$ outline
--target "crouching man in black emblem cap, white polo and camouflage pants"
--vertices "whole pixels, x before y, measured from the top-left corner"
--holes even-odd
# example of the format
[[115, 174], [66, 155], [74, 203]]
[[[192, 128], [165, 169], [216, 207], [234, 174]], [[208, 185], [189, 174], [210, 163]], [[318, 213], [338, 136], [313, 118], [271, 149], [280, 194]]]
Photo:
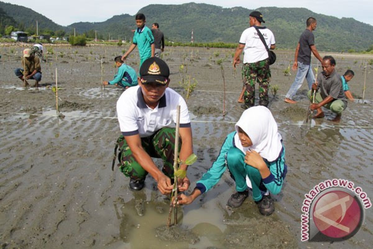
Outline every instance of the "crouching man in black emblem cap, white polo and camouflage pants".
[[[119, 137], [120, 171], [130, 177], [131, 190], [144, 187], [149, 173], [156, 181], [162, 194], [172, 191], [170, 178], [173, 177], [173, 157], [175, 150], [176, 108], [180, 105], [181, 147], [179, 159], [193, 153], [192, 130], [189, 112], [184, 99], [169, 85], [169, 67], [157, 57], [146, 59], [140, 68], [138, 86], [130, 87], [119, 97], [117, 115], [122, 136]], [[121, 139], [122, 138], [122, 139]], [[179, 143], [180, 144], [180, 143]], [[151, 157], [162, 158], [162, 171]], [[187, 165], [181, 165], [186, 170]], [[179, 181], [179, 190], [189, 187], [187, 177]]]

